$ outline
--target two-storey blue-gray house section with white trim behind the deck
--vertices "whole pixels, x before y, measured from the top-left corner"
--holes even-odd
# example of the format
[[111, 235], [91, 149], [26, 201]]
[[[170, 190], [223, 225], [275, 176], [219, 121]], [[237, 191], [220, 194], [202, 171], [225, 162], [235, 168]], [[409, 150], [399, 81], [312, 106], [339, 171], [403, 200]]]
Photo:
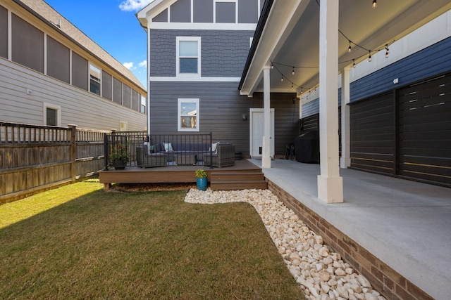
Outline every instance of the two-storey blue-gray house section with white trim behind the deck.
[[[263, 0], [154, 0], [137, 14], [148, 33], [149, 133], [213, 133], [261, 157], [262, 93], [237, 89]], [[271, 156], [298, 134], [296, 94], [275, 94]]]

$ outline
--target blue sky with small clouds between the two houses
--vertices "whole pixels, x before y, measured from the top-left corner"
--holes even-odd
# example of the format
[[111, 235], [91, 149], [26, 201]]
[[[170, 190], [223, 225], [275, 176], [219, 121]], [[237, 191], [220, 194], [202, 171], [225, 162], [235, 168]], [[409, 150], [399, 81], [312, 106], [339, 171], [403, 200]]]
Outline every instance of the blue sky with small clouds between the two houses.
[[146, 84], [146, 32], [135, 17], [152, 0], [44, 0]]

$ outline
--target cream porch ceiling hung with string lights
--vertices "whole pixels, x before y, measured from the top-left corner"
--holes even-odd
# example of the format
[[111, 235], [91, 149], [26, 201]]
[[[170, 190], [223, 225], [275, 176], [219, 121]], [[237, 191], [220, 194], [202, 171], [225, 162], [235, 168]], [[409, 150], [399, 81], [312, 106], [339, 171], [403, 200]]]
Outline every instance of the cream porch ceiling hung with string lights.
[[[319, 84], [319, 2], [320, 0], [275, 0], [262, 24], [261, 38], [242, 77], [241, 92], [252, 95], [263, 90], [262, 69], [274, 62], [271, 91], [301, 93]], [[339, 70], [369, 56], [366, 49], [384, 48], [426, 22], [451, 9], [449, 0], [340, 0]], [[352, 41], [352, 51], [348, 52]], [[359, 46], [356, 46], [358, 44]], [[375, 54], [376, 52], [372, 52]], [[284, 66], [286, 65], [286, 66]], [[295, 74], [292, 70], [295, 67]], [[280, 81], [281, 74], [284, 80]]]

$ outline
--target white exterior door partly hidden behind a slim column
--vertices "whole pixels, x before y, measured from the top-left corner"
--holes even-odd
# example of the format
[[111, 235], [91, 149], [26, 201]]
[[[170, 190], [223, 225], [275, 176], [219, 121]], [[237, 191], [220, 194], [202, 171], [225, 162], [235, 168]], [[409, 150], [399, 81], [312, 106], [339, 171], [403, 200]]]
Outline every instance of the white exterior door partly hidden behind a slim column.
[[[271, 157], [274, 157], [274, 109], [270, 110], [271, 115]], [[263, 108], [251, 108], [249, 110], [249, 153], [251, 157], [261, 157], [263, 153], [264, 136], [264, 115]]]

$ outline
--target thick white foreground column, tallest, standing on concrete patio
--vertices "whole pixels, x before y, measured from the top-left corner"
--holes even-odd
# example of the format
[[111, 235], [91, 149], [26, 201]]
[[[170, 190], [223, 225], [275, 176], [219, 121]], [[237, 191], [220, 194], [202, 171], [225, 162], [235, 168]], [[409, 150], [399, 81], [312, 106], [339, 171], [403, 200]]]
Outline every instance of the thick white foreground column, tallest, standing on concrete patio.
[[319, 143], [321, 174], [318, 197], [343, 202], [338, 159], [338, 0], [321, 0], [319, 8]]

